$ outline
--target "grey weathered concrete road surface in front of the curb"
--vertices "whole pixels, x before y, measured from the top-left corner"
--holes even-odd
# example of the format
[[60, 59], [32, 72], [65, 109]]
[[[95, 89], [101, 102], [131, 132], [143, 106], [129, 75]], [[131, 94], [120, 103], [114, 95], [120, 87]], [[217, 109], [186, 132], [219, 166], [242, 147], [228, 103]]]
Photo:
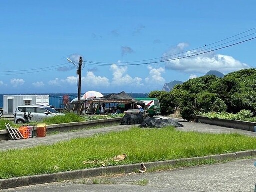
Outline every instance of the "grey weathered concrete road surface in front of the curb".
[[[256, 159], [237, 160], [228, 163], [185, 167], [169, 171], [143, 174], [124, 174], [109, 177], [78, 179], [61, 183], [48, 183], [6, 189], [6, 191], [93, 191], [93, 192], [185, 192], [185, 191], [254, 191]], [[92, 184], [92, 179], [109, 184]], [[147, 181], [145, 186], [136, 185]], [[84, 183], [84, 184], [83, 184]]]

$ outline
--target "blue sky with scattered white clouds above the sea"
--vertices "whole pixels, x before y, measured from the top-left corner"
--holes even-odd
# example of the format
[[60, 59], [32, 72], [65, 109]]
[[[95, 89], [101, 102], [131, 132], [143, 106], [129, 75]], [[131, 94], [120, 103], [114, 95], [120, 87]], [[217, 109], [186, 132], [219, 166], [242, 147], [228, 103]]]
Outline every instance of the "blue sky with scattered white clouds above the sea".
[[79, 56], [82, 93], [150, 92], [209, 70], [256, 67], [255, 0], [0, 0], [0, 7], [2, 94], [76, 93], [77, 68], [67, 58], [78, 65]]

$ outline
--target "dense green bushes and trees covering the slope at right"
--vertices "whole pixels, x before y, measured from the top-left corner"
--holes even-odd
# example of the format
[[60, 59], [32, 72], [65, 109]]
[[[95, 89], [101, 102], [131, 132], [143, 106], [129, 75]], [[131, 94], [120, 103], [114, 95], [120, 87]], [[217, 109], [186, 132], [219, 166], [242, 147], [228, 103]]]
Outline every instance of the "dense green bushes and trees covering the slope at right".
[[193, 78], [170, 92], [152, 91], [149, 97], [159, 99], [163, 115], [179, 111], [186, 120], [194, 120], [199, 113], [237, 114], [241, 110], [249, 110], [251, 117], [255, 117], [256, 68], [231, 72], [223, 78], [214, 75]]

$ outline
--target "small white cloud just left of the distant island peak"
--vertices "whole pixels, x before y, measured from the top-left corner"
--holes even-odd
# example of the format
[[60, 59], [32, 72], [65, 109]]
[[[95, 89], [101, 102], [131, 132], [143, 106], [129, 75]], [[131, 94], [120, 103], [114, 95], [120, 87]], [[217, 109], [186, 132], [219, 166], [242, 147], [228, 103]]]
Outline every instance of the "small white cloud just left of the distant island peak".
[[149, 76], [145, 78], [146, 83], [164, 84], [165, 79], [161, 76], [165, 72], [164, 68], [153, 68], [150, 65], [147, 68], [149, 69]]

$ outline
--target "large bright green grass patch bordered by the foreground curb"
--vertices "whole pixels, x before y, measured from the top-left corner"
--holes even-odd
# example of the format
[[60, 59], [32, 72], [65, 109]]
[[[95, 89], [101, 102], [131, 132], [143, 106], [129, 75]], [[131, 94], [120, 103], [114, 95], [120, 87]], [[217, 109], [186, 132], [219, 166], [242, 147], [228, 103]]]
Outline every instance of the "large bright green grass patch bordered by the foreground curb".
[[[33, 138], [36, 139], [36, 138]], [[256, 138], [162, 129], [132, 128], [96, 134], [49, 146], [0, 152], [0, 178], [19, 177], [93, 167], [206, 156], [256, 148]], [[113, 161], [119, 154], [123, 161]], [[84, 161], [93, 163], [83, 163]]]

